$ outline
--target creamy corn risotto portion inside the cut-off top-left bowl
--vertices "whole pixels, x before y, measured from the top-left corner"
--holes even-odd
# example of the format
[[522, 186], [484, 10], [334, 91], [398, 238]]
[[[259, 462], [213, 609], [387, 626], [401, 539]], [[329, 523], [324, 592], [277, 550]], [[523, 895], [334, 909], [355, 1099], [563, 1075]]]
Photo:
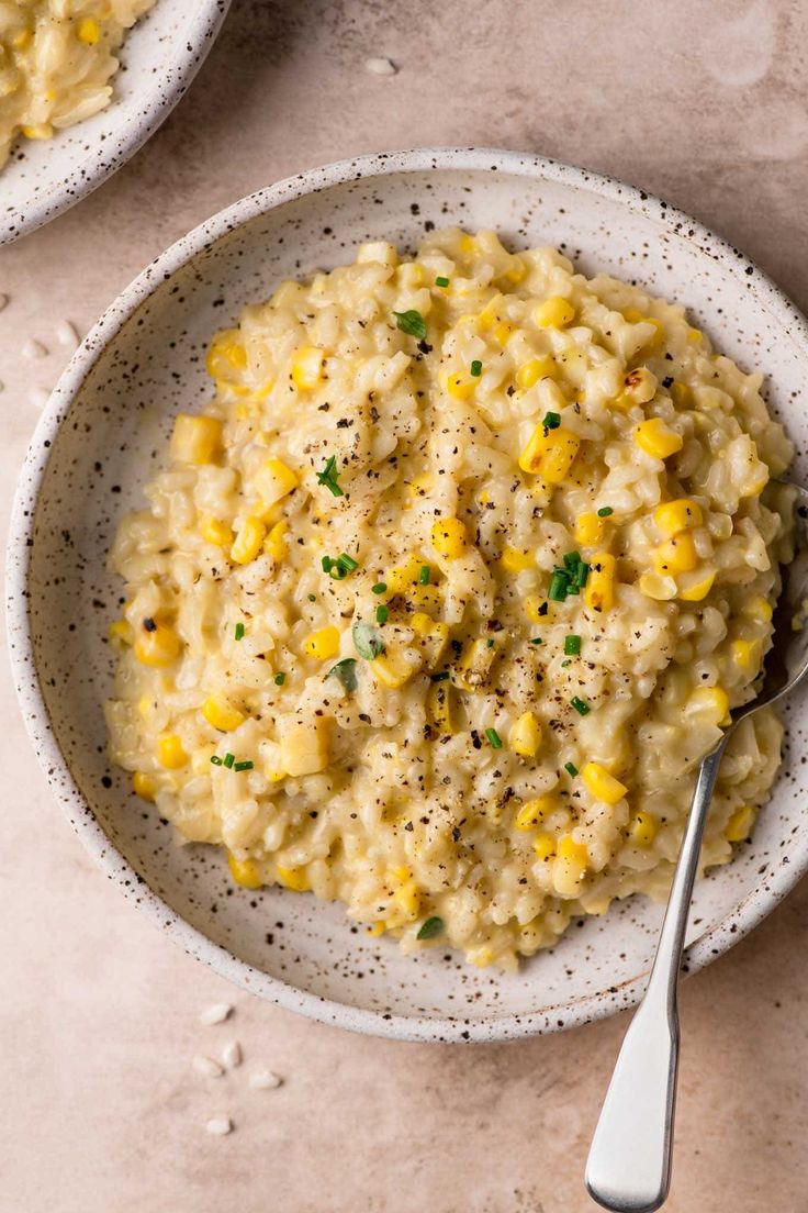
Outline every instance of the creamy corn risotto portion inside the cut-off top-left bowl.
[[0, 0], [0, 169], [18, 135], [47, 139], [104, 109], [115, 52], [155, 0]]

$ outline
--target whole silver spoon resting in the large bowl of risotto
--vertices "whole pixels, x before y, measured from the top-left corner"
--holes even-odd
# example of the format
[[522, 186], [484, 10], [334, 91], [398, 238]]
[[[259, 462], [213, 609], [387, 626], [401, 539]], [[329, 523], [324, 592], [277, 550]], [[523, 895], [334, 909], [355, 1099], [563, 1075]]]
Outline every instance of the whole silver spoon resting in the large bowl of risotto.
[[808, 599], [808, 492], [792, 488], [797, 556], [784, 570], [763, 687], [757, 699], [735, 708], [721, 741], [701, 761], [657, 957], [625, 1033], [589, 1151], [589, 1194], [614, 1213], [653, 1213], [667, 1196], [680, 1041], [677, 984], [701, 836], [721, 759], [740, 721], [787, 695], [808, 670], [808, 627], [795, 625], [806, 614]]

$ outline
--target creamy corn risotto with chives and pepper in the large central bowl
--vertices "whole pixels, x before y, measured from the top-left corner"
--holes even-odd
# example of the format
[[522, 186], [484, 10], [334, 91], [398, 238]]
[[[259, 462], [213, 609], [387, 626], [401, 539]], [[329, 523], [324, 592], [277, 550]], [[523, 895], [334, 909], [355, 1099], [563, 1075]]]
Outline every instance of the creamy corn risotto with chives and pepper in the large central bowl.
[[[114, 761], [248, 889], [512, 967], [665, 894], [772, 637], [791, 445], [684, 309], [492, 232], [283, 281], [111, 565]], [[744, 722], [703, 869], [781, 725]]]

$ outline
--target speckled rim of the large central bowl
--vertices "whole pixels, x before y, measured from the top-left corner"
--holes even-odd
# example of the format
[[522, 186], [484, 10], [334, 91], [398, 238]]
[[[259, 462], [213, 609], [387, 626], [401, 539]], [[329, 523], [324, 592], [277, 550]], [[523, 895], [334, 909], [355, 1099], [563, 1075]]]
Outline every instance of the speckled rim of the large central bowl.
[[[297, 173], [241, 198], [174, 241], [107, 308], [70, 359], [36, 425], [15, 495], [6, 548], [7, 638], [13, 680], [25, 728], [52, 792], [102, 871], [118, 881], [124, 894], [134, 898], [136, 904], [148, 917], [188, 953], [204, 961], [243, 990], [325, 1024], [402, 1041], [504, 1041], [583, 1025], [606, 1018], [615, 1010], [632, 1007], [641, 997], [647, 974], [638, 973], [619, 986], [561, 1002], [541, 1012], [464, 1020], [391, 1014], [350, 1007], [298, 990], [286, 981], [254, 969], [225, 947], [214, 944], [162, 901], [134, 872], [96, 820], [90, 804], [73, 779], [50, 725], [34, 665], [27, 609], [35, 507], [48, 463], [51, 443], [93, 365], [144, 300], [216, 240], [282, 203], [350, 181], [429, 170], [505, 172], [571, 184], [602, 194], [652, 222], [661, 223], [671, 234], [697, 241], [705, 255], [738, 277], [745, 289], [756, 294], [762, 307], [780, 324], [791, 326], [797, 341], [808, 346], [808, 321], [753, 262], [684, 212], [617, 178], [532, 153], [452, 147], [369, 153]], [[698, 972], [743, 939], [779, 904], [806, 870], [808, 870], [808, 848], [789, 864], [778, 865], [770, 873], [767, 871], [734, 910], [687, 947], [683, 972]]]

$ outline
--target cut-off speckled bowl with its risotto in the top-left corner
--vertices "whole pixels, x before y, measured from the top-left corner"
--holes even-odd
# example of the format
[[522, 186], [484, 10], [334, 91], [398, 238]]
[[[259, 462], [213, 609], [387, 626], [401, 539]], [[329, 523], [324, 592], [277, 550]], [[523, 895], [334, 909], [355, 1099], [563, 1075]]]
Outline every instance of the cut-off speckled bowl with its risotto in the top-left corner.
[[31, 0], [0, 10], [0, 244], [61, 215], [171, 113], [230, 0]]

